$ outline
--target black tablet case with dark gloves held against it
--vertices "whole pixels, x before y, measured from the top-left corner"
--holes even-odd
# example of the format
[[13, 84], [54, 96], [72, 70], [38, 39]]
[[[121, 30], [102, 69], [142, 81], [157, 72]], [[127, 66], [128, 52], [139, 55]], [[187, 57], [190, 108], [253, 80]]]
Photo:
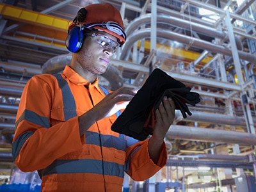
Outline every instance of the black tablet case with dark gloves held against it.
[[145, 140], [154, 129], [154, 112], [163, 100], [164, 95], [172, 97], [176, 109], [184, 118], [191, 115], [186, 103], [195, 106], [200, 102], [199, 94], [190, 92], [191, 88], [168, 76], [163, 70], [156, 68], [143, 86], [138, 90], [124, 112], [118, 116], [111, 130], [131, 136], [137, 140]]

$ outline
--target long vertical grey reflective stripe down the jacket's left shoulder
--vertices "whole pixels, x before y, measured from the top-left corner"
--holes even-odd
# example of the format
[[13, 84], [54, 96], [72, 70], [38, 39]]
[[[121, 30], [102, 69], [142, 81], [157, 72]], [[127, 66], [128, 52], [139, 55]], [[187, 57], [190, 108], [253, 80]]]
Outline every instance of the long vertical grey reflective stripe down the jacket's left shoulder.
[[61, 88], [63, 108], [64, 108], [64, 117], [67, 121], [68, 119], [77, 116], [76, 114], [76, 102], [74, 96], [68, 86], [67, 81], [63, 79], [61, 74], [53, 74], [56, 77], [59, 87]]

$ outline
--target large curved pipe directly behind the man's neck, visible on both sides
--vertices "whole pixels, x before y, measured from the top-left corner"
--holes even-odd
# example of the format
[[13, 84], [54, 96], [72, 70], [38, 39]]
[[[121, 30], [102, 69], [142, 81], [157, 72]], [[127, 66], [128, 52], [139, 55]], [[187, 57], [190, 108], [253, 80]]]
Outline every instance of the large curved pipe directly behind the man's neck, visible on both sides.
[[[62, 54], [60, 56], [55, 56], [44, 63], [42, 66], [42, 72], [44, 74], [54, 74], [61, 72], [66, 65], [70, 65], [71, 59], [72, 54]], [[102, 77], [109, 81], [109, 88], [111, 90], [117, 90], [124, 84], [122, 75], [113, 65], [108, 66], [106, 72], [102, 74]]]

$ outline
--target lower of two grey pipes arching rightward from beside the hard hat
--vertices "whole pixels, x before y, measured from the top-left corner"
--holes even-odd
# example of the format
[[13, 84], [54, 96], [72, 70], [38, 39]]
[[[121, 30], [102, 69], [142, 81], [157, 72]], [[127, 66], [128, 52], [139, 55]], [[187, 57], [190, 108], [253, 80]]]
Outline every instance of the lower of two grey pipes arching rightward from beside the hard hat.
[[[135, 33], [133, 33], [132, 35], [130, 35], [129, 38], [127, 38], [127, 42], [124, 44], [124, 47], [122, 47], [122, 54], [120, 55], [120, 60], [127, 60], [129, 56], [127, 52], [131, 50], [132, 45], [138, 40], [150, 37], [150, 33], [151, 33], [150, 29], [140, 29]], [[206, 49], [211, 52], [217, 52], [220, 54], [226, 54], [228, 56], [232, 56], [231, 50], [221, 45], [212, 44], [210, 42], [196, 39], [191, 36], [173, 33], [172, 31], [168, 31], [166, 29], [157, 29], [157, 36], [160, 38], [175, 40], [183, 44], [191, 44], [191, 46], [193, 47]], [[252, 63], [256, 61], [256, 56], [253, 54], [248, 54], [242, 51], [237, 51], [237, 53], [239, 54], [239, 57], [243, 60], [251, 61]]]

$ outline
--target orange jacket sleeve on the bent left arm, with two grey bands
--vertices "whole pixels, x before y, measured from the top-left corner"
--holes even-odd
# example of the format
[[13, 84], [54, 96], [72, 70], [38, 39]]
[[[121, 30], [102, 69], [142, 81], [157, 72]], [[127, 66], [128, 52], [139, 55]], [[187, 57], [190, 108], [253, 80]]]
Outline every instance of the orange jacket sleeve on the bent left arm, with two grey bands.
[[47, 80], [34, 76], [20, 97], [12, 154], [23, 172], [45, 168], [55, 159], [83, 146], [77, 117], [51, 125], [52, 102], [58, 97], [54, 95], [56, 87], [52, 86], [52, 81], [54, 77]]

